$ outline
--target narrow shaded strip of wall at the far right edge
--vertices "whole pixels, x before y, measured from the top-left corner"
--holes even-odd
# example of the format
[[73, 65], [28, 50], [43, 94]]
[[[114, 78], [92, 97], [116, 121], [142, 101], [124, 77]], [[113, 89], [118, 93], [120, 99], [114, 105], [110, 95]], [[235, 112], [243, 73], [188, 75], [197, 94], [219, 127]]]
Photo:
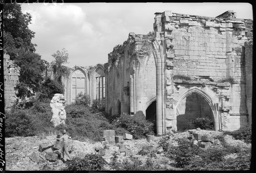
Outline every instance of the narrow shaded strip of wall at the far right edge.
[[246, 93], [246, 106], [249, 115], [248, 124], [252, 124], [252, 51], [253, 41], [244, 43], [245, 47], [245, 93]]

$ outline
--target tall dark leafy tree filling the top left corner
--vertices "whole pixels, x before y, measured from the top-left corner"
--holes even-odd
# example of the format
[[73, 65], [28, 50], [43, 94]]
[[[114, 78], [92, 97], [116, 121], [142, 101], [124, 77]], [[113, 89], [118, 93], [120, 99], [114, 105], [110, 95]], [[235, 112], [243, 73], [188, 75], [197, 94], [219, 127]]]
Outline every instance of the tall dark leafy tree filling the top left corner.
[[28, 28], [32, 16], [29, 13], [23, 14], [20, 4], [4, 4], [3, 6], [3, 41], [4, 51], [15, 59], [21, 49], [35, 52], [36, 44], [31, 42], [35, 32]]

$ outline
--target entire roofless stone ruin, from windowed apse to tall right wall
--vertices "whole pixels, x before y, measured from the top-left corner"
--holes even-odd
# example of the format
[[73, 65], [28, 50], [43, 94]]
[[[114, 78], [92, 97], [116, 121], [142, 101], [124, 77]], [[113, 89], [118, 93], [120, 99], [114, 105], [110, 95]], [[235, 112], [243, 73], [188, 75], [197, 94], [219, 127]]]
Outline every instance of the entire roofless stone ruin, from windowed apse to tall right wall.
[[74, 67], [64, 81], [67, 103], [85, 93], [110, 114], [156, 122], [159, 135], [198, 117], [212, 119], [216, 131], [251, 125], [252, 20], [233, 11], [155, 15], [154, 32], [130, 32], [106, 64]]

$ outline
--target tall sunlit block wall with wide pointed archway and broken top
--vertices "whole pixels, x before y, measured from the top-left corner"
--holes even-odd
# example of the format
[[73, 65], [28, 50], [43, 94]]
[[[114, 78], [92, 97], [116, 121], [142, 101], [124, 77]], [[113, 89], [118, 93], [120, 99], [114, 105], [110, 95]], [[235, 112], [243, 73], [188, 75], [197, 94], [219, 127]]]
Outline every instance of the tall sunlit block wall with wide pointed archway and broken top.
[[[161, 67], [159, 76], [166, 78], [166, 84], [159, 81], [161, 90], [164, 90], [159, 90], [159, 94], [165, 105], [159, 106], [165, 109], [165, 127], [175, 128], [175, 108], [182, 95], [181, 88], [188, 93], [191, 88], [197, 88], [202, 96], [209, 89], [205, 99], [211, 95], [209, 100], [216, 100], [216, 103], [209, 101], [215, 109], [215, 121], [219, 123], [215, 124], [216, 128], [234, 130], [246, 125], [243, 46], [250, 32], [246, 28], [248, 20], [236, 19], [235, 16], [211, 18], [171, 11], [155, 14], [154, 55]], [[166, 66], [160, 65], [162, 62], [166, 62]], [[174, 75], [189, 76], [191, 79], [174, 81]]]

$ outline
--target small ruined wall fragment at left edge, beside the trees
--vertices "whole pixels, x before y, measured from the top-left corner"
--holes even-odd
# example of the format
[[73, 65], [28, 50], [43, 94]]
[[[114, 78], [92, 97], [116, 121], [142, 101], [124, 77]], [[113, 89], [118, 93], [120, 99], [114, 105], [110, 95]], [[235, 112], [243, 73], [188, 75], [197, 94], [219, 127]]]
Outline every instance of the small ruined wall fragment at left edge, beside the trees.
[[13, 64], [8, 54], [4, 54], [4, 108], [8, 109], [16, 101], [19, 83], [20, 67]]

